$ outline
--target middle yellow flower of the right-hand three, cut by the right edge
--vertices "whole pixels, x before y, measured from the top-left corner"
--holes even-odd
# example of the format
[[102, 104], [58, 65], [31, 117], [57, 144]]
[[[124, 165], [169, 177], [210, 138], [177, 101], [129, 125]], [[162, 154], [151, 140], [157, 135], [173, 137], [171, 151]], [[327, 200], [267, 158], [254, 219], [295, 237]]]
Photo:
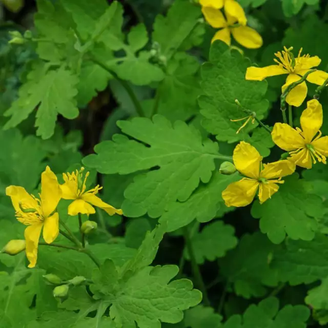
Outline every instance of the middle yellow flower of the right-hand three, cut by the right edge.
[[[322, 106], [318, 100], [308, 101], [308, 107], [301, 115], [301, 129], [293, 129], [285, 123], [276, 123], [272, 139], [281, 149], [288, 151], [289, 158], [296, 165], [311, 169], [312, 162], [326, 163], [328, 156], [328, 137], [321, 137]], [[318, 134], [318, 135], [317, 135]]]

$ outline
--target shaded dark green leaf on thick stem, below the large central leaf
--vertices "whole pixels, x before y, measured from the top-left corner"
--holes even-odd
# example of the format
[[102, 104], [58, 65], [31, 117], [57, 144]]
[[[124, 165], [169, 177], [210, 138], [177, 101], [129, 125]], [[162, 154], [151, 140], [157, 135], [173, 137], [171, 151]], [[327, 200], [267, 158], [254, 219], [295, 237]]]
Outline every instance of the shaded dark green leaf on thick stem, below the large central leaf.
[[[227, 251], [234, 249], [238, 243], [234, 234], [235, 229], [232, 226], [222, 221], [215, 221], [192, 236], [197, 263], [203, 264], [205, 260], [214, 261], [226, 255]], [[187, 249], [184, 255], [190, 259]]]

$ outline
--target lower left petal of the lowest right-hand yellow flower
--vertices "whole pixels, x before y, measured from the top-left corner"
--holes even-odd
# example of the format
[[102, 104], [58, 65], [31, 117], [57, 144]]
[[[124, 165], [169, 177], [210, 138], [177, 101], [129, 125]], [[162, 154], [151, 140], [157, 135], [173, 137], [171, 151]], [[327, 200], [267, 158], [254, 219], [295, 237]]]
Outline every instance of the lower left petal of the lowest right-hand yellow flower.
[[240, 181], [230, 183], [222, 191], [222, 198], [226, 206], [242, 207], [250, 204], [256, 194], [259, 182], [251, 179], [241, 179]]

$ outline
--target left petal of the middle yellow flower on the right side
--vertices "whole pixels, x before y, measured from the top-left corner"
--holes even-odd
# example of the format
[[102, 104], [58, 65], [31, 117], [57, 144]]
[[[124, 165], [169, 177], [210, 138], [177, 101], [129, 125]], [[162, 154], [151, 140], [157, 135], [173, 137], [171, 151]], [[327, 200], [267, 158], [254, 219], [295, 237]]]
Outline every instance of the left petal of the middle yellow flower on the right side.
[[273, 142], [285, 151], [292, 151], [305, 146], [302, 136], [285, 123], [276, 123], [271, 132]]

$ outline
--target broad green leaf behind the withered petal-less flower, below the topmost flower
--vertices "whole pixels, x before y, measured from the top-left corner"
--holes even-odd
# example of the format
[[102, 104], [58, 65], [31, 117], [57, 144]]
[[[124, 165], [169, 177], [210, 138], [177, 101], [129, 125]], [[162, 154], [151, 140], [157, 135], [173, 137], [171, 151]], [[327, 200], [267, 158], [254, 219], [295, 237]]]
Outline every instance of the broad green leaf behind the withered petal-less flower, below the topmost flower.
[[[256, 113], [262, 119], [268, 110], [268, 100], [263, 97], [267, 91], [266, 81], [248, 81], [245, 79], [250, 60], [238, 51], [230, 50], [221, 41], [214, 42], [210, 51], [210, 62], [202, 66], [202, 90], [199, 98], [202, 126], [215, 134], [220, 141], [234, 142], [242, 138], [236, 134], [238, 126], [231, 119], [246, 116], [235, 103], [238, 99], [242, 107]], [[244, 133], [256, 127], [248, 125]]]

